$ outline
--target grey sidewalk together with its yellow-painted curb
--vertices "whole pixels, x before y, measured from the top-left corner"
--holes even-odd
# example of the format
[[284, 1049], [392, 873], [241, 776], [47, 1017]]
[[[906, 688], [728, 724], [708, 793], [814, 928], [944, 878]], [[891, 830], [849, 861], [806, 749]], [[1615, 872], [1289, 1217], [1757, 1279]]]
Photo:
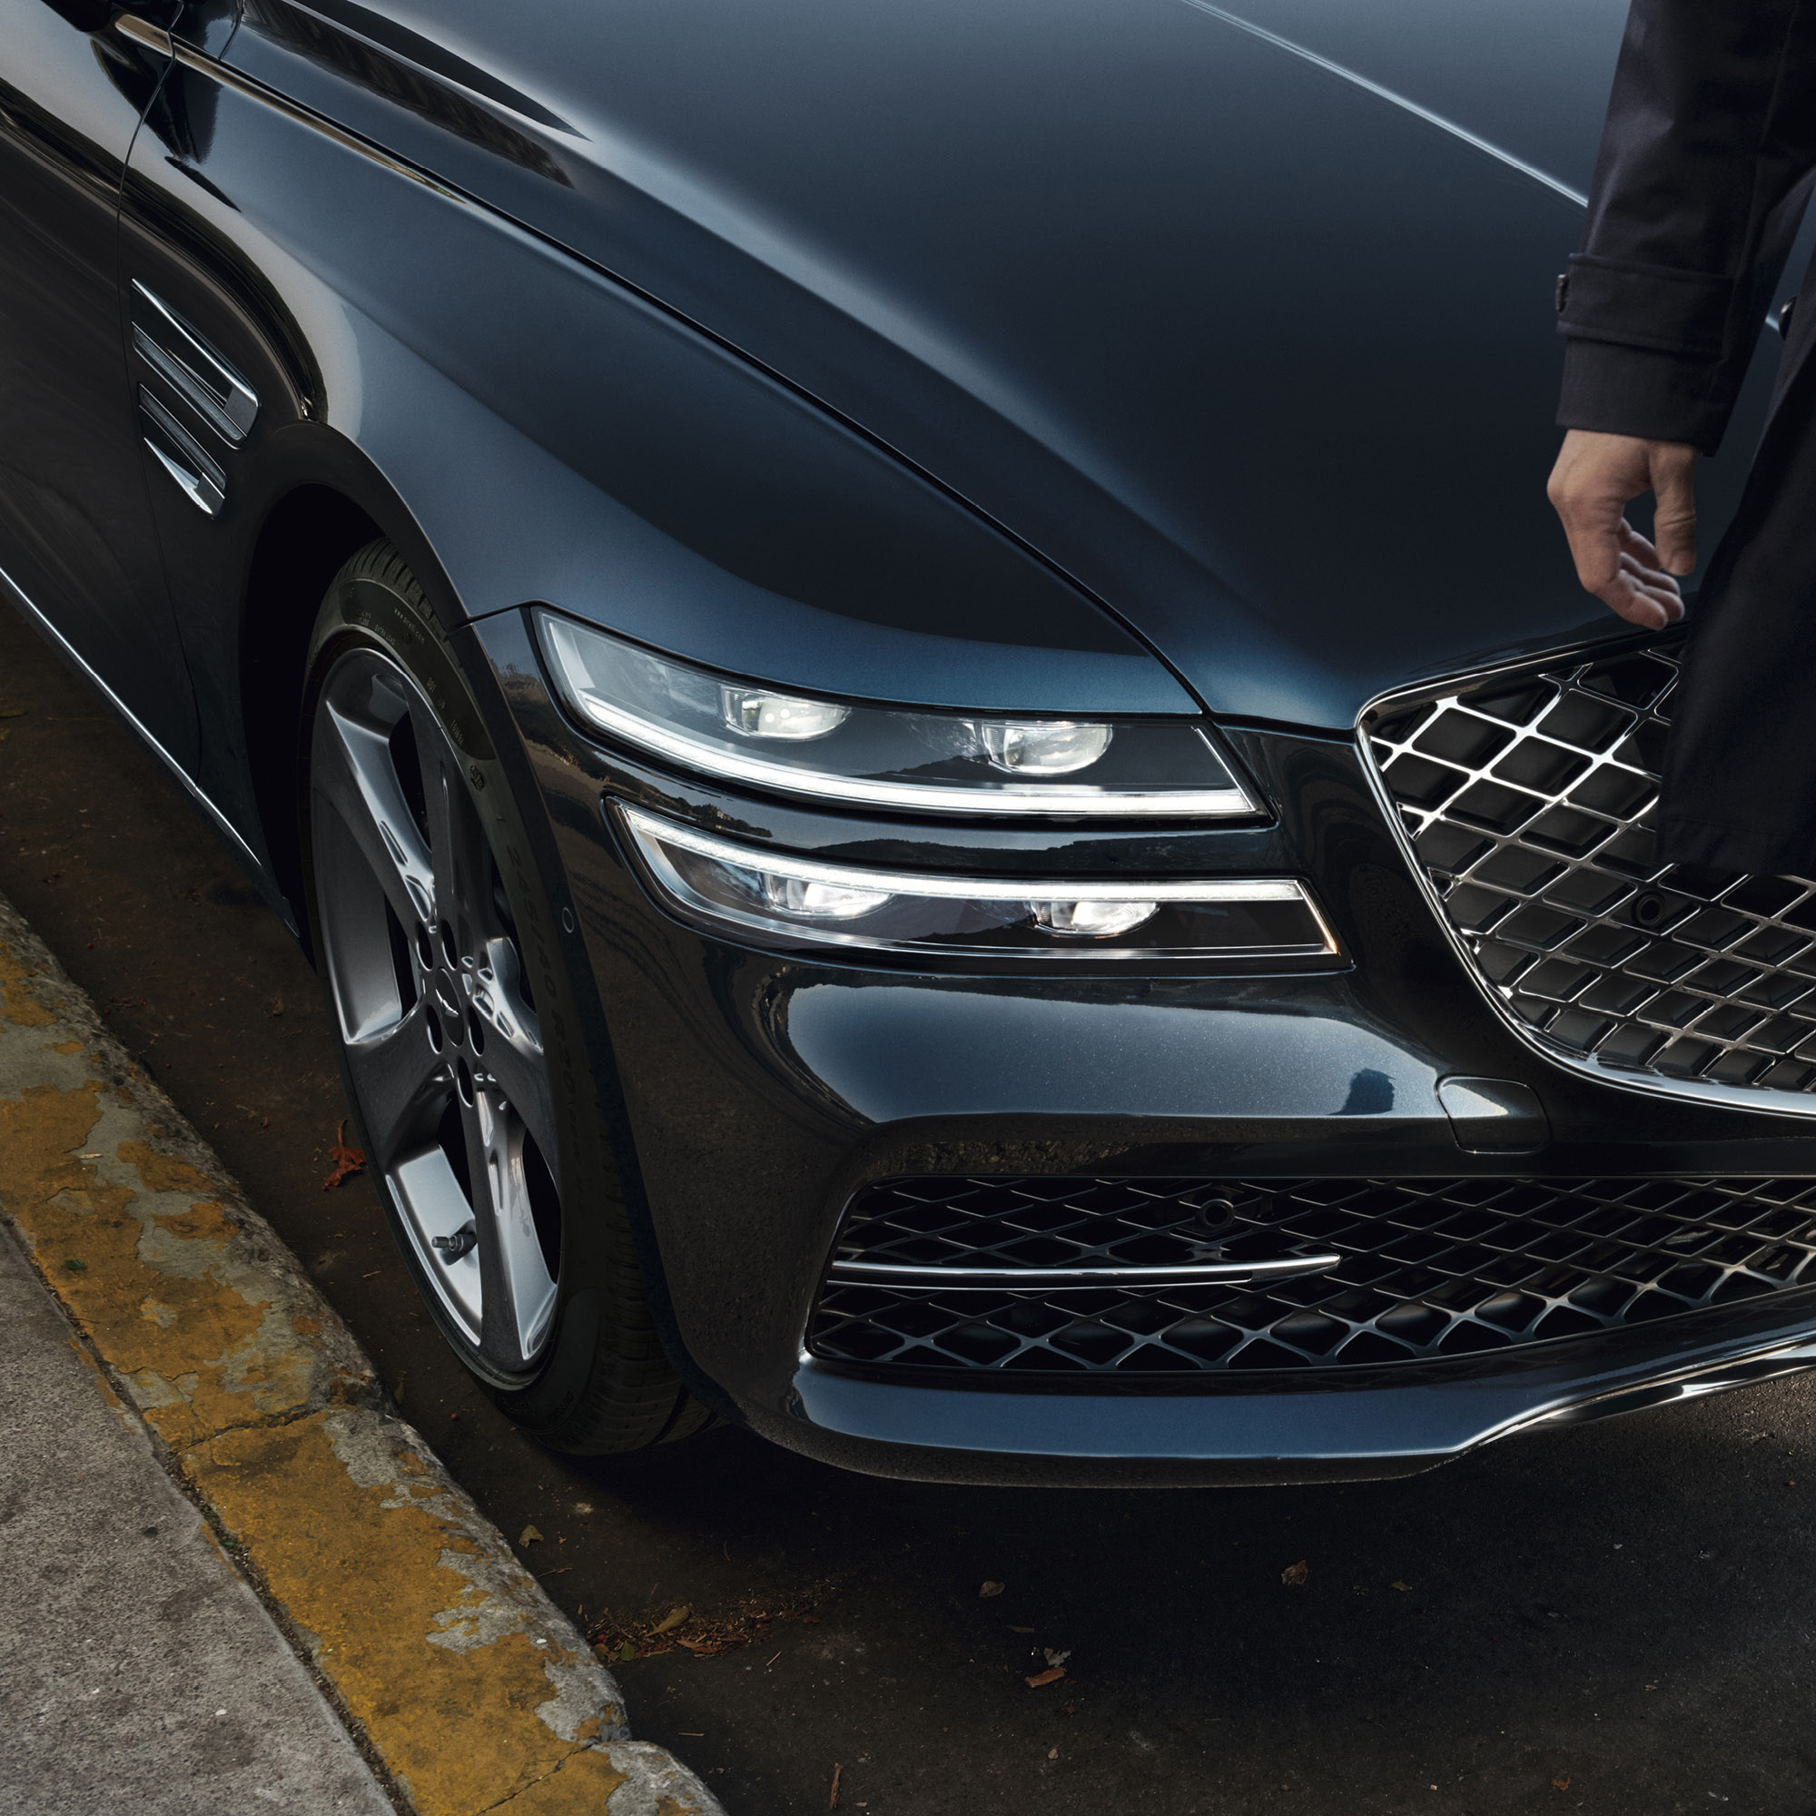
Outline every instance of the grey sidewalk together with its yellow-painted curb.
[[0, 1816], [723, 1816], [4, 897], [0, 1224]]

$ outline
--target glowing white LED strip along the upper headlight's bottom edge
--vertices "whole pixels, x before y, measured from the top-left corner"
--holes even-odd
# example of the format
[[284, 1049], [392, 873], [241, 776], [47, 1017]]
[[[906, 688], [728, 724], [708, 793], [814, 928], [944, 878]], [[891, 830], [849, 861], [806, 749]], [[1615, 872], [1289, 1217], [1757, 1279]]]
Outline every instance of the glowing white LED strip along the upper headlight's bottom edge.
[[[570, 683], [572, 685], [572, 683]], [[899, 806], [952, 814], [1170, 814], [1209, 815], [1231, 819], [1255, 814], [1258, 808], [1240, 788], [1155, 788], [1110, 790], [1081, 788], [1077, 785], [1042, 783], [1039, 786], [952, 788], [939, 783], [892, 783], [861, 775], [832, 775], [821, 770], [803, 770], [788, 763], [768, 763], [746, 757], [743, 752], [708, 745], [666, 725], [656, 725], [641, 714], [605, 699], [594, 688], [574, 688], [577, 705], [587, 717], [630, 745], [672, 757], [690, 770], [725, 775], [732, 781], [754, 783], [759, 788], [786, 788], [790, 794], [815, 795], [823, 801], [863, 801], [868, 806]], [[926, 893], [923, 890], [923, 893]], [[1273, 897], [1242, 897], [1264, 901]]]

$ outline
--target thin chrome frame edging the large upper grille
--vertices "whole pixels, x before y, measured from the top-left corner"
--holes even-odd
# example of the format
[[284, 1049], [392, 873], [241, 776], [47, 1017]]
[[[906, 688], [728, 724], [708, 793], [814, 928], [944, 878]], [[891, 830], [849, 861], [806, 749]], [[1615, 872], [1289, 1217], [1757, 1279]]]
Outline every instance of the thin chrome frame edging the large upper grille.
[[1723, 1110], [1747, 1110], [1756, 1117], [1801, 1117], [1807, 1120], [1816, 1117], [1816, 1097], [1805, 1097], [1792, 1091], [1758, 1091], [1743, 1084], [1711, 1084], [1707, 1079], [1660, 1079], [1651, 1073], [1629, 1075], [1614, 1071], [1611, 1066], [1596, 1066], [1589, 1061], [1571, 1059], [1569, 1053], [1560, 1053], [1540, 1041], [1513, 1012], [1513, 1006], [1502, 999], [1495, 986], [1482, 975], [1482, 968], [1476, 964], [1475, 953], [1469, 950], [1469, 943], [1446, 913], [1444, 901], [1431, 877], [1426, 873], [1426, 866], [1418, 861], [1411, 837], [1407, 837], [1406, 821], [1400, 817], [1400, 804], [1393, 799], [1393, 794], [1387, 788], [1387, 779], [1382, 775], [1380, 765], [1375, 763], [1375, 755], [1369, 750], [1369, 726], [1386, 712], [1391, 712], [1397, 705], [1435, 699], [1460, 686], [1475, 686], [1482, 681], [1493, 681], [1498, 677], [1507, 677], [1511, 681], [1516, 676], [1545, 674], [1585, 652], [1594, 652], [1598, 656], [1607, 654], [1611, 657], [1624, 656], [1629, 650], [1643, 650], [1649, 643], [1662, 636], [1665, 636], [1665, 632], [1645, 632], [1633, 637], [1614, 636], [1578, 639], [1576, 643], [1560, 643], [1556, 648], [1545, 650], [1538, 656], [1522, 656], [1507, 663], [1489, 663], [1485, 668], [1467, 668], [1442, 679], [1426, 679], [1387, 688], [1367, 701], [1362, 712], [1357, 714], [1357, 761], [1367, 779], [1369, 792], [1375, 795], [1375, 804], [1386, 817], [1395, 844], [1406, 859], [1406, 868], [1411, 872], [1413, 883], [1416, 884], [1420, 895], [1424, 895], [1426, 904], [1431, 908], [1431, 917], [1438, 923], [1438, 930], [1444, 933], [1446, 941], [1449, 941], [1451, 952], [1456, 953], [1458, 964], [1462, 964], [1469, 981], [1482, 993], [1482, 999], [1500, 1019], [1502, 1026], [1505, 1026], [1520, 1041], [1520, 1044], [1527, 1048], [1527, 1051], [1536, 1053], [1549, 1066], [1573, 1071], [1582, 1079], [1593, 1079], [1596, 1084], [1605, 1084], [1614, 1091], [1633, 1091], [1636, 1097], [1669, 1097], [1678, 1099], [1680, 1102], [1683, 1099], [1691, 1099], [1696, 1102], [1718, 1104]]

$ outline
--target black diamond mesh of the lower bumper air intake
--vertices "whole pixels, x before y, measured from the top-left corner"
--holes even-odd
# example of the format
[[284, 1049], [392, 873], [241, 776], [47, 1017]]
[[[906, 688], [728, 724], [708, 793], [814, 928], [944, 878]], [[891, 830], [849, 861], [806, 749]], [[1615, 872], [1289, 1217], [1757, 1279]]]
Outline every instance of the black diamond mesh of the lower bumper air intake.
[[[1042, 1289], [1041, 1269], [1335, 1251], [1266, 1286]], [[1411, 1362], [1816, 1284], [1811, 1179], [908, 1179], [852, 1206], [814, 1355], [890, 1367], [1177, 1375]], [[1026, 1266], [1026, 1288], [839, 1266]]]

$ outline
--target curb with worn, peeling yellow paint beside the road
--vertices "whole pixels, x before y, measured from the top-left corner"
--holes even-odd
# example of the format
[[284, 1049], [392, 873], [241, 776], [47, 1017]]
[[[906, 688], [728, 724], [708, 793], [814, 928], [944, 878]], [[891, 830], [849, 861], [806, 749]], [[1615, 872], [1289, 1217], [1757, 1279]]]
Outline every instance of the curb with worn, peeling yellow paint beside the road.
[[725, 1816], [0, 895], [0, 1215], [416, 1816]]

